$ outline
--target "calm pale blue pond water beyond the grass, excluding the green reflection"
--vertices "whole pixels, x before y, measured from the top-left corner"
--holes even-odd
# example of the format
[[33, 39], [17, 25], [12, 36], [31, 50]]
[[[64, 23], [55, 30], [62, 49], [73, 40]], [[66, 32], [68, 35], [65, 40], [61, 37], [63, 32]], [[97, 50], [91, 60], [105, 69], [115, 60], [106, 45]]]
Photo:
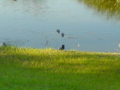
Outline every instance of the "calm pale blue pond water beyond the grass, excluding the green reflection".
[[64, 44], [66, 50], [119, 52], [119, 34], [119, 20], [78, 0], [0, 0], [0, 43], [56, 49]]

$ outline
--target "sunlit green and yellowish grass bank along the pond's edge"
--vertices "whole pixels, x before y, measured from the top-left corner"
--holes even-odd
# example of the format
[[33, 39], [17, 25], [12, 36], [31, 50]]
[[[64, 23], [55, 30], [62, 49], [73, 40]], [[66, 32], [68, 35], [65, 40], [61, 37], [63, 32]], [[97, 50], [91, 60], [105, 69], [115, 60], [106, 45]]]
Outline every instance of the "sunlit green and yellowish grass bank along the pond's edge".
[[120, 56], [0, 47], [0, 90], [120, 90]]

